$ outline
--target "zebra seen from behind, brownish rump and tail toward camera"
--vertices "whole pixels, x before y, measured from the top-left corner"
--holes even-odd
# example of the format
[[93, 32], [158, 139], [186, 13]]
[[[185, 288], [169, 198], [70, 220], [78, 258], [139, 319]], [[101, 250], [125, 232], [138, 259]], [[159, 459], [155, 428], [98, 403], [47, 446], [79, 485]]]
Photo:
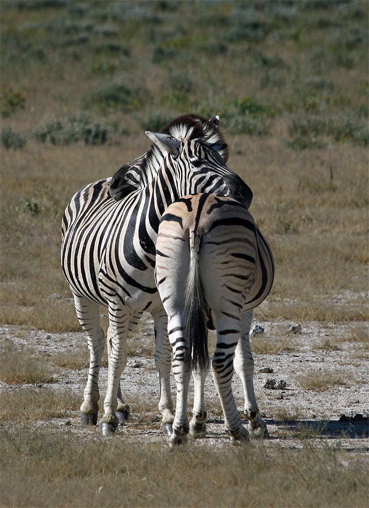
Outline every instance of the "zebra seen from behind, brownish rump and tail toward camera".
[[[259, 416], [253, 388], [249, 343], [252, 309], [268, 295], [274, 277], [271, 249], [239, 202], [211, 194], [186, 196], [171, 204], [160, 220], [156, 244], [156, 282], [168, 314], [173, 348], [177, 404], [170, 442], [189, 432], [187, 396], [192, 367], [203, 387], [210, 368], [207, 328], [216, 329], [211, 360], [231, 439], [247, 438], [232, 393], [235, 368], [245, 393], [245, 414], [252, 433], [266, 425]], [[178, 262], [180, 260], [180, 262]], [[192, 356], [192, 358], [191, 358]], [[196, 393], [193, 422], [204, 431], [204, 390]]]

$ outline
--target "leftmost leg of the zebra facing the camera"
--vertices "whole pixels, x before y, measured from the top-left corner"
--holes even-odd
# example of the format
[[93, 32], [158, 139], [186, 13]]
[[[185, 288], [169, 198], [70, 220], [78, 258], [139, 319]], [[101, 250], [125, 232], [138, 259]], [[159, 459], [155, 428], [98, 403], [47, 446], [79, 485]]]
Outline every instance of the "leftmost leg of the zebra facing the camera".
[[81, 405], [81, 425], [96, 425], [100, 398], [98, 378], [104, 351], [104, 335], [100, 327], [100, 308], [97, 303], [91, 302], [87, 298], [75, 294], [73, 296], [78, 320], [87, 334], [90, 352], [87, 385]]

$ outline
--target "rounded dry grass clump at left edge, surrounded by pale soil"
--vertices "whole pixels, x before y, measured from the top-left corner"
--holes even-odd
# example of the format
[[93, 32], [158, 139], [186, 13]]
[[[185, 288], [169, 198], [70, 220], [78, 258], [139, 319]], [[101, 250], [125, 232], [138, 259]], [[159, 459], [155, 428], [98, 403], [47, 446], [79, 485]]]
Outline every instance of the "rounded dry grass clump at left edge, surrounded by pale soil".
[[13, 343], [6, 343], [1, 352], [2, 366], [0, 379], [10, 385], [27, 383], [52, 383], [55, 373], [47, 360], [31, 348], [18, 348]]

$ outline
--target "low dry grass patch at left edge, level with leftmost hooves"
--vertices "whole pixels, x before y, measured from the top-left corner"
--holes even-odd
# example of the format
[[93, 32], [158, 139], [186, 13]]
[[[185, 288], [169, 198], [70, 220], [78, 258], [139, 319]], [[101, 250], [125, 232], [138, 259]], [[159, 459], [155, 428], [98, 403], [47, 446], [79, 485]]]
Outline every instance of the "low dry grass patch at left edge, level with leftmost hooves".
[[0, 419], [27, 424], [48, 418], [62, 418], [77, 411], [80, 405], [80, 397], [69, 390], [22, 387], [2, 393]]

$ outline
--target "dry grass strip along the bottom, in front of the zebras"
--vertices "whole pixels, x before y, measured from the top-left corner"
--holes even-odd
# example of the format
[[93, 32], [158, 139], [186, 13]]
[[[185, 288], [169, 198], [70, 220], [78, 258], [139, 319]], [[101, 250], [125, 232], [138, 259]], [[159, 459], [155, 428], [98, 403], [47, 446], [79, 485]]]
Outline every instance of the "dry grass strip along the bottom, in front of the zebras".
[[367, 500], [362, 457], [304, 441], [300, 450], [260, 443], [210, 453], [189, 444], [186, 453], [169, 453], [121, 436], [83, 442], [68, 432], [3, 426], [2, 450], [6, 506], [362, 507]]

